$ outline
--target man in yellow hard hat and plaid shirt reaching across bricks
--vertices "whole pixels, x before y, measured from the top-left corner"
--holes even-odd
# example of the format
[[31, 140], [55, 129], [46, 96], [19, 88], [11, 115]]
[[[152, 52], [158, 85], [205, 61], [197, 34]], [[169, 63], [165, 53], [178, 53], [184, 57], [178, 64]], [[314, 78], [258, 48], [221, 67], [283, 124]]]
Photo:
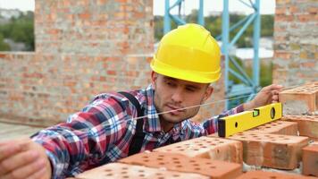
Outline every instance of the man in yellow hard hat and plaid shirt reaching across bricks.
[[[205, 28], [186, 24], [172, 30], [150, 64], [152, 82], [146, 89], [100, 94], [67, 123], [42, 130], [31, 140], [1, 142], [0, 178], [63, 178], [217, 132], [217, 116], [202, 124], [190, 118], [220, 79], [220, 57], [217, 42]], [[280, 89], [265, 87], [252, 101], [222, 115], [276, 102]]]

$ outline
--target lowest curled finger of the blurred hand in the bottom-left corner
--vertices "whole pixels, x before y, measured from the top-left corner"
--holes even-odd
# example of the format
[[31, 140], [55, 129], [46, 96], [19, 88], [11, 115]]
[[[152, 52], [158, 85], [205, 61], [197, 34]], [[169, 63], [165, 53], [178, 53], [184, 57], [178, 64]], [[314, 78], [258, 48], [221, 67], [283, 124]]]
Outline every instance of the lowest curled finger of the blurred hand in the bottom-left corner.
[[[46, 173], [46, 161], [42, 158], [38, 158], [36, 161], [33, 161], [27, 166], [23, 166], [19, 169], [14, 170], [13, 172], [4, 175], [4, 179], [24, 179], [27, 176], [28, 178], [36, 179], [40, 178]], [[41, 175], [42, 174], [42, 175]]]

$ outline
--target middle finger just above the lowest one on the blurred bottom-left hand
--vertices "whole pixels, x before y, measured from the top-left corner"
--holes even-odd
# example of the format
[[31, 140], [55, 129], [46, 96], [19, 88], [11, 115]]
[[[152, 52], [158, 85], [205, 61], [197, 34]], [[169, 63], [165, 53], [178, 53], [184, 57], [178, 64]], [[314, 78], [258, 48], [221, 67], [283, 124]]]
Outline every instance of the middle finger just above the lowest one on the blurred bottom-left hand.
[[13, 155], [11, 158], [5, 158], [0, 162], [0, 175], [10, 173], [11, 171], [27, 166], [29, 163], [37, 160], [39, 154], [37, 151], [23, 151]]

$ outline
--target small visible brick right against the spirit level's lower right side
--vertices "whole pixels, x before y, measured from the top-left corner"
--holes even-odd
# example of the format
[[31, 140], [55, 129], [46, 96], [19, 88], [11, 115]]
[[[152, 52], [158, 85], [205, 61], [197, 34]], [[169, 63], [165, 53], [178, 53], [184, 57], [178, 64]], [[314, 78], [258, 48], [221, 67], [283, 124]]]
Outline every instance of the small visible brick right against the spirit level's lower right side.
[[248, 130], [247, 132], [298, 135], [296, 122], [288, 122], [282, 120], [255, 127], [254, 129]]

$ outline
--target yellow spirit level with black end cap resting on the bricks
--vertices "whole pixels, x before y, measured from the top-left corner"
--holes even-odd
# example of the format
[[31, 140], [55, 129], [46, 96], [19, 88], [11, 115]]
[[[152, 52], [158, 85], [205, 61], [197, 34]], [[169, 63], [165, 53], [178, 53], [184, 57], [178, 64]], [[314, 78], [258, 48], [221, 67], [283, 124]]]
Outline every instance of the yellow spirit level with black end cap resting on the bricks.
[[255, 108], [253, 111], [245, 111], [236, 115], [221, 117], [218, 122], [220, 137], [243, 132], [258, 125], [267, 124], [282, 116], [281, 103], [273, 103], [264, 107]]

